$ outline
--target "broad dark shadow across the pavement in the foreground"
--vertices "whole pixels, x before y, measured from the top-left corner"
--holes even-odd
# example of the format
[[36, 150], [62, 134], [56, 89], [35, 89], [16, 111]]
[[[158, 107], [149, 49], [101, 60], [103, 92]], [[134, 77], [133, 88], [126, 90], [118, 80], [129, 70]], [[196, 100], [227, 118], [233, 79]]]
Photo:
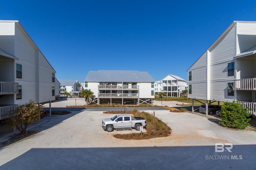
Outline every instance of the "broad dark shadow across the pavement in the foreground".
[[[85, 141], [93, 142], [93, 141]], [[16, 169], [254, 169], [256, 145], [30, 149], [1, 166]]]

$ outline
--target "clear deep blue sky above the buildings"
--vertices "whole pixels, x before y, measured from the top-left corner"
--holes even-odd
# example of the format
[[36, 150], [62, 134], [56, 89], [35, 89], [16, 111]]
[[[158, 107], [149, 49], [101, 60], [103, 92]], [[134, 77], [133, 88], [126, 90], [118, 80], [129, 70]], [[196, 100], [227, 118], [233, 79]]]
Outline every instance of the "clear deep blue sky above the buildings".
[[83, 82], [93, 70], [138, 70], [154, 80], [186, 70], [233, 21], [256, 21], [255, 0], [6, 0], [56, 78]]

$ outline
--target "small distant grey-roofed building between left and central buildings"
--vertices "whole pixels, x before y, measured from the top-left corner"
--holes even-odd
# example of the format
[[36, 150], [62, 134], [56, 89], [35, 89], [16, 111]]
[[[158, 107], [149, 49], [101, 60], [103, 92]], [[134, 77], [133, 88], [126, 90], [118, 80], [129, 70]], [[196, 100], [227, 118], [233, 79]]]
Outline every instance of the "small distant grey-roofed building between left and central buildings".
[[79, 84], [78, 80], [59, 80], [59, 81], [60, 81], [60, 94], [63, 94], [64, 92], [68, 92], [70, 95], [73, 95], [74, 93], [80, 92], [81, 90], [81, 87], [78, 86]]

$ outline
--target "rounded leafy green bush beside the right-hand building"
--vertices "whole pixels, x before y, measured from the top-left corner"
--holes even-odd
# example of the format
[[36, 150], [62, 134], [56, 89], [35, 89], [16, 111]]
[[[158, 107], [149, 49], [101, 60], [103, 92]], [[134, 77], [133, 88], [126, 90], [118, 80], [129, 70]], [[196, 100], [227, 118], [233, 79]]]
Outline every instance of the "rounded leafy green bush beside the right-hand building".
[[248, 118], [250, 114], [248, 109], [244, 108], [242, 104], [234, 101], [232, 103], [226, 102], [221, 107], [221, 122], [220, 125], [224, 127], [231, 127], [235, 129], [245, 129], [246, 126], [250, 125]]

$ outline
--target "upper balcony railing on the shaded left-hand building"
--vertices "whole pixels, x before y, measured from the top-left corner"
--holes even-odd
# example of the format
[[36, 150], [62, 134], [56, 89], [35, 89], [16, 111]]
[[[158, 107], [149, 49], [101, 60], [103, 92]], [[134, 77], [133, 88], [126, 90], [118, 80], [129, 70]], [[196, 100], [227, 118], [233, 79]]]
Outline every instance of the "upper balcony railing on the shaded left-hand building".
[[14, 82], [0, 82], [1, 94], [18, 94], [19, 84]]

